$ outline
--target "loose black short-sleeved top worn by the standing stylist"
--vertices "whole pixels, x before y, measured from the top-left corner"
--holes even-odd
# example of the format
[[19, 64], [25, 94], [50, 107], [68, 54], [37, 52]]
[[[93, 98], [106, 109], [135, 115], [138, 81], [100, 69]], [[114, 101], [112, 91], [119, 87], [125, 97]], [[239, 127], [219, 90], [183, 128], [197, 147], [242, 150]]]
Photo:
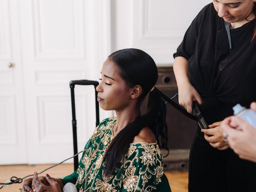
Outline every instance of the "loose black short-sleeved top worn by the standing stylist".
[[230, 50], [224, 20], [210, 3], [192, 21], [174, 53], [174, 58], [188, 60], [189, 79], [203, 99], [209, 124], [232, 115], [237, 103], [249, 107], [256, 101], [254, 25], [255, 19], [230, 30]]

